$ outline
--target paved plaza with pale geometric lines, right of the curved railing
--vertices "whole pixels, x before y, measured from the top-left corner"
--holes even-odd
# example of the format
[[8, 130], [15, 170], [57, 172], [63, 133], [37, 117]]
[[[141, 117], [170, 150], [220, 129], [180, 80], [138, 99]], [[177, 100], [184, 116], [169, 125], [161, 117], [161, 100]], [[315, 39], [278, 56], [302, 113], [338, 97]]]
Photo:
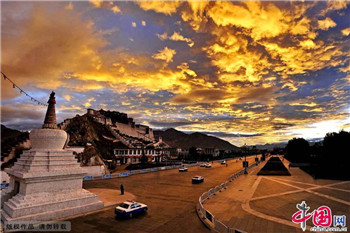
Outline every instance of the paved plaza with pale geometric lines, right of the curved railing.
[[[284, 163], [288, 167], [288, 161]], [[303, 232], [292, 222], [296, 204], [302, 201], [309, 213], [326, 205], [332, 215], [350, 216], [350, 181], [314, 180], [299, 168], [291, 168], [291, 176], [257, 176], [263, 165], [205, 201], [204, 208], [226, 226], [249, 233]], [[306, 231], [311, 224], [310, 219]]]

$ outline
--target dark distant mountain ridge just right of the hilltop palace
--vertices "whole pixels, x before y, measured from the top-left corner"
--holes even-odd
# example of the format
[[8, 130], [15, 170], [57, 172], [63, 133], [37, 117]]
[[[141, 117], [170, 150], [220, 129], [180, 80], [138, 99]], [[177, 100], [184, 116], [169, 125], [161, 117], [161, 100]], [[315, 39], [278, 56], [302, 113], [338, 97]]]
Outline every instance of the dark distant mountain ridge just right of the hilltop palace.
[[217, 148], [220, 150], [238, 150], [239, 148], [228, 141], [203, 133], [186, 134], [176, 129], [170, 128], [165, 131], [153, 131], [155, 136], [162, 137], [162, 140], [174, 148], [188, 149], [197, 148]]

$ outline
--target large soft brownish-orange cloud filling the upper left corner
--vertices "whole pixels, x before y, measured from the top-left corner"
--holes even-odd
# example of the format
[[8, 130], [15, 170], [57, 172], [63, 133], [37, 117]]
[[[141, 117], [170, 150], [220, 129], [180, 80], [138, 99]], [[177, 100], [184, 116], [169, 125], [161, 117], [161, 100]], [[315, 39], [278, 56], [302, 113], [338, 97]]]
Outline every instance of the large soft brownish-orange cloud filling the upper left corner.
[[[15, 13], [18, 5], [23, 11], [20, 16]], [[62, 85], [64, 73], [93, 71], [101, 65], [96, 51], [107, 42], [73, 10], [49, 11], [42, 3], [9, 2], [2, 8], [1, 20], [2, 71], [18, 84], [54, 89]]]

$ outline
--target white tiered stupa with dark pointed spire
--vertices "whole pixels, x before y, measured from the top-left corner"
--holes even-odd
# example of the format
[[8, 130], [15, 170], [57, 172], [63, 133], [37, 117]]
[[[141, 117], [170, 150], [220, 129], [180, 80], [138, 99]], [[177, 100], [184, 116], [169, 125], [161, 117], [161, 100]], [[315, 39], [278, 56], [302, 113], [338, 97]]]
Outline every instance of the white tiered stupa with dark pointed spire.
[[64, 150], [67, 133], [57, 129], [54, 92], [48, 104], [42, 129], [30, 132], [31, 150], [5, 170], [10, 185], [1, 194], [4, 222], [56, 220], [103, 207], [82, 188], [86, 174], [73, 152]]

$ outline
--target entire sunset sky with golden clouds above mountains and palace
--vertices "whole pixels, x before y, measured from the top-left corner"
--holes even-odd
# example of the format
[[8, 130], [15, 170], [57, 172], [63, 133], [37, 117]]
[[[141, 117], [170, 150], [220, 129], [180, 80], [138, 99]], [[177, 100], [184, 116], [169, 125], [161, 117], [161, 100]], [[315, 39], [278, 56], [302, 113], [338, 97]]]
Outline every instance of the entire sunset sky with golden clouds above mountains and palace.
[[[347, 1], [3, 2], [1, 70], [59, 121], [87, 107], [233, 144], [350, 130]], [[1, 80], [2, 120], [45, 108]]]

